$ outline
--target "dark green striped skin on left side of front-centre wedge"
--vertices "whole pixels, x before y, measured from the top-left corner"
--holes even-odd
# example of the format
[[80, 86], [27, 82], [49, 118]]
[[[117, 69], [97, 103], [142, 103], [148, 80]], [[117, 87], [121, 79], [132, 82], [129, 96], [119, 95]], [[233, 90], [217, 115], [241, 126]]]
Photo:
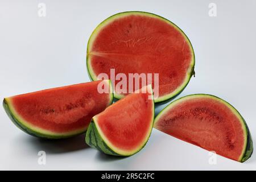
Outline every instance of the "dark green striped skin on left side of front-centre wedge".
[[104, 142], [104, 140], [101, 138], [100, 134], [98, 133], [98, 130], [93, 121], [90, 122], [88, 131], [86, 132], [85, 142], [90, 147], [93, 147], [99, 151], [102, 151], [105, 154], [122, 156], [117, 154], [111, 148], [108, 147], [108, 145]]

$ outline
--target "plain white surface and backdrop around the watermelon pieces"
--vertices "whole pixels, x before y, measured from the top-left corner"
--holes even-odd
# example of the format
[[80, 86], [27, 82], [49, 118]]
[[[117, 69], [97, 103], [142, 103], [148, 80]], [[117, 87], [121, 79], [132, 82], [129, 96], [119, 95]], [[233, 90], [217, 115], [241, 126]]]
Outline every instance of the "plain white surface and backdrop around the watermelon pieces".
[[[46, 3], [45, 18], [38, 3]], [[209, 17], [208, 5], [217, 5]], [[191, 40], [196, 77], [179, 97], [209, 93], [236, 107], [256, 141], [256, 1], [3, 1], [0, 0], [0, 98], [89, 81], [86, 44], [102, 20], [121, 11], [159, 14]], [[157, 110], [160, 110], [158, 108]], [[146, 147], [130, 158], [109, 157], [86, 147], [84, 136], [60, 141], [23, 133], [0, 108], [0, 169], [256, 169], [255, 153], [245, 163], [217, 157], [153, 130]], [[38, 151], [46, 151], [45, 166]]]

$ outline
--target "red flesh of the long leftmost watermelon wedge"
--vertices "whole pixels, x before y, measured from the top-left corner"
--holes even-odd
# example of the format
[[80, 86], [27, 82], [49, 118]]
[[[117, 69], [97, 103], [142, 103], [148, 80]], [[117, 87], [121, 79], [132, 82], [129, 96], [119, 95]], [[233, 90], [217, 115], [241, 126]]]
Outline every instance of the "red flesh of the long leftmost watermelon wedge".
[[110, 102], [109, 94], [98, 93], [99, 82], [22, 94], [10, 100], [24, 121], [40, 129], [55, 133], [86, 129]]

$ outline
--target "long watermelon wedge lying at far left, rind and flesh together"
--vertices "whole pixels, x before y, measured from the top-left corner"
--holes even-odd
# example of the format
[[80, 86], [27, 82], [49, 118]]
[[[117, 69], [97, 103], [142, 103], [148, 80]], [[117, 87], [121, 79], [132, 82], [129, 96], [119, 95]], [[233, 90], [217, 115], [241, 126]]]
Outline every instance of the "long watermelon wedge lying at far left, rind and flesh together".
[[[98, 92], [100, 83], [108, 86], [108, 93]], [[55, 139], [83, 133], [92, 117], [112, 102], [111, 82], [104, 80], [7, 97], [3, 107], [24, 132]]]

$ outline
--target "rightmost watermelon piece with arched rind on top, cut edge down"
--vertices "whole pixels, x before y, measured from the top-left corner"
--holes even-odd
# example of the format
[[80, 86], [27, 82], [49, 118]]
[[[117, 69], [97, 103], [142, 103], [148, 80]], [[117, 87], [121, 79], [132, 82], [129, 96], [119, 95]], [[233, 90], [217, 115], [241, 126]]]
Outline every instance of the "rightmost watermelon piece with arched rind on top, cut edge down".
[[172, 102], [155, 118], [154, 127], [239, 162], [253, 153], [245, 119], [228, 102], [212, 95], [194, 94]]

